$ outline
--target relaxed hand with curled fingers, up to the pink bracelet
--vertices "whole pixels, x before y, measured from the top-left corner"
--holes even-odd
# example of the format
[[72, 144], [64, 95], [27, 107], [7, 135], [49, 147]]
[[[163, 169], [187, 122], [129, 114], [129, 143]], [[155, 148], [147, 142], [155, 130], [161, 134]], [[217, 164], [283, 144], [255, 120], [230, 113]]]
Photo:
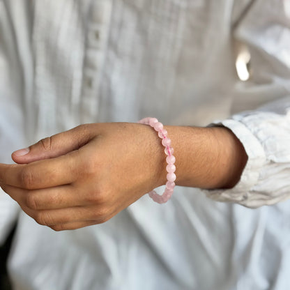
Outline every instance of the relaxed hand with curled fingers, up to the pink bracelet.
[[80, 125], [12, 157], [18, 165], [0, 164], [1, 188], [56, 231], [105, 222], [166, 182], [160, 139], [137, 123]]

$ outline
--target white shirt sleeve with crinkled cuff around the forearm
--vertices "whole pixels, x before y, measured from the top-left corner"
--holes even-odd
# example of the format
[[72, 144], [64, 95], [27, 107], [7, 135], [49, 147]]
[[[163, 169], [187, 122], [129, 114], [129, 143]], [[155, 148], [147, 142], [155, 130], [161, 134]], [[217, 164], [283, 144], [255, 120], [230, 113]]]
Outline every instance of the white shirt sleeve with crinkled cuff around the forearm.
[[204, 192], [217, 201], [257, 208], [290, 198], [290, 5], [249, 3], [233, 31], [251, 56], [250, 79], [241, 85], [245, 93], [238, 102], [271, 101], [214, 122], [234, 132], [248, 161], [234, 188]]

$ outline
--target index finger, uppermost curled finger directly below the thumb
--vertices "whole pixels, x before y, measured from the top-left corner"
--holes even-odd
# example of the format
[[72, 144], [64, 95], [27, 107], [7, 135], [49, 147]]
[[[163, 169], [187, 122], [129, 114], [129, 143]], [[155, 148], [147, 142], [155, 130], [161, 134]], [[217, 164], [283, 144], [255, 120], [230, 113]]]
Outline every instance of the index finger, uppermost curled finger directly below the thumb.
[[27, 165], [0, 163], [0, 183], [35, 190], [69, 184], [77, 178], [78, 151]]

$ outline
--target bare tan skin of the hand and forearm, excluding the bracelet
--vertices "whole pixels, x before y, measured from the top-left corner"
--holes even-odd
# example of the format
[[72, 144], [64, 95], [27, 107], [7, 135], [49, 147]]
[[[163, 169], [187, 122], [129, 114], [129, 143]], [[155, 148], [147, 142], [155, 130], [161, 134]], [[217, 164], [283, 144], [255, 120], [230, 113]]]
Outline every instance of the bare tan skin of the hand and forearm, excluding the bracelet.
[[[176, 156], [176, 185], [213, 189], [238, 182], [247, 154], [229, 129], [165, 129]], [[166, 183], [164, 147], [148, 125], [79, 125], [20, 154], [27, 151], [12, 154], [15, 165], [0, 164], [1, 188], [56, 231], [105, 222]]]

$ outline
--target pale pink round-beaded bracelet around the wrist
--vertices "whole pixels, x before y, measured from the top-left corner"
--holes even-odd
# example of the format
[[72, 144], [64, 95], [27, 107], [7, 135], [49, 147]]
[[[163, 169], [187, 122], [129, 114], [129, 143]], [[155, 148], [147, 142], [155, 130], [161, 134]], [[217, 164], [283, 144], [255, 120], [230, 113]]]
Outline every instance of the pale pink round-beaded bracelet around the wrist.
[[175, 157], [173, 155], [174, 150], [171, 147], [171, 139], [167, 137], [167, 130], [163, 128], [162, 123], [160, 123], [156, 118], [147, 117], [140, 120], [138, 123], [151, 125], [151, 127], [153, 127], [154, 130], [158, 132], [158, 136], [162, 139], [162, 145], [165, 146], [165, 154], [167, 155], [167, 183], [165, 192], [163, 192], [162, 195], [157, 194], [155, 190], [152, 190], [148, 193], [149, 197], [151, 197], [153, 201], [158, 202], [158, 204], [165, 204], [165, 202], [167, 202], [173, 194], [173, 190], [175, 187], [174, 181], [176, 180], [176, 175], [174, 174], [176, 170], [176, 167], [174, 165]]

